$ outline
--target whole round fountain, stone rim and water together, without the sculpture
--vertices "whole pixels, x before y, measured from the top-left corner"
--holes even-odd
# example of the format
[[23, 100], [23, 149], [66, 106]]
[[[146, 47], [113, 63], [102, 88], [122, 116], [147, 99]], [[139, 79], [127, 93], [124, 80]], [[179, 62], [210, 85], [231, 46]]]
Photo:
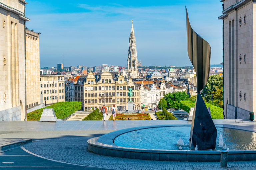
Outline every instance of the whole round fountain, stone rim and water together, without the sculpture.
[[190, 150], [190, 125], [158, 125], [122, 129], [89, 139], [88, 150], [106, 156], [161, 161], [220, 161], [229, 148], [228, 161], [256, 159], [256, 133], [216, 126], [216, 150]]

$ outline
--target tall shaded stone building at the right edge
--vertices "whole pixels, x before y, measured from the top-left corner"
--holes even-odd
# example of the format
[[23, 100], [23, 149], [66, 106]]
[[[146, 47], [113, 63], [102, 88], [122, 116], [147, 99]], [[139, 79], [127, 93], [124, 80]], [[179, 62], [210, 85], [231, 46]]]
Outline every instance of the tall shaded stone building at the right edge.
[[218, 19], [223, 20], [224, 115], [226, 119], [249, 119], [249, 112], [256, 112], [256, 3], [221, 2], [223, 11]]

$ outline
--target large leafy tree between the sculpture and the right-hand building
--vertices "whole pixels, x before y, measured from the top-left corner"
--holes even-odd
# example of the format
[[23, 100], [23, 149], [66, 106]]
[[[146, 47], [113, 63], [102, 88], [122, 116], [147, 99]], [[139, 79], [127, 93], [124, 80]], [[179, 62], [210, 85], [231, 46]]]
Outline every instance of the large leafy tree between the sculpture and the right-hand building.
[[216, 91], [218, 86], [223, 86], [222, 77], [219, 75], [211, 75], [201, 93], [202, 96], [205, 94], [205, 102], [211, 102], [211, 94]]

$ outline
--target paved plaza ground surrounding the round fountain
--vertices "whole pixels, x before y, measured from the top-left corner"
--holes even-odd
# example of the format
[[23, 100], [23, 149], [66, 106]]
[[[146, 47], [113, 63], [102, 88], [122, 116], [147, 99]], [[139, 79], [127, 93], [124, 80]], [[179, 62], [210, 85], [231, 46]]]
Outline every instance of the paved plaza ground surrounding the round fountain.
[[[214, 120], [215, 125], [241, 128], [256, 132], [255, 121]], [[87, 140], [105, 133], [132, 127], [150, 125], [191, 124], [183, 120], [148, 121], [37, 121], [0, 122], [0, 140], [4, 138], [32, 138], [33, 142], [0, 153], [0, 169], [192, 169], [251, 170], [256, 161], [228, 162], [221, 168], [219, 162], [148, 161], [102, 156], [87, 150]], [[6, 140], [6, 139], [5, 139]], [[67, 164], [69, 163], [69, 164]]]

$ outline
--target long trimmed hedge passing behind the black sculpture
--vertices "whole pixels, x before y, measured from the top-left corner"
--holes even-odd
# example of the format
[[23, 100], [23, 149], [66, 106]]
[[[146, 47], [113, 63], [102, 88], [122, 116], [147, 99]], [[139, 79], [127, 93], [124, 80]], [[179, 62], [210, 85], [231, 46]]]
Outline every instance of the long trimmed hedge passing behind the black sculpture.
[[[223, 110], [220, 107], [214, 106], [210, 103], [205, 104], [206, 107], [210, 108], [212, 119], [223, 119]], [[180, 108], [186, 112], [189, 112], [191, 107], [195, 107], [195, 102], [189, 100], [180, 101]]]

